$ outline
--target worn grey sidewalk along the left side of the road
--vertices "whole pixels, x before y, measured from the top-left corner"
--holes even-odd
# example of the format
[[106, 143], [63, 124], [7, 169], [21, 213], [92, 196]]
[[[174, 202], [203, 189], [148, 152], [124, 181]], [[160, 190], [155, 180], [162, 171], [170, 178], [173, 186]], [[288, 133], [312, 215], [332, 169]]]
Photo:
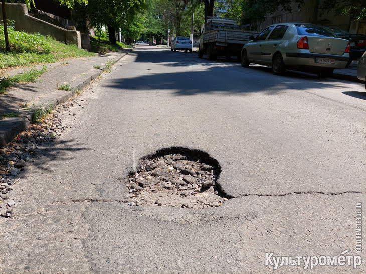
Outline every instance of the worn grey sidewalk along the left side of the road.
[[[0, 147], [10, 142], [32, 122], [37, 109], [51, 109], [72, 97], [105, 68], [120, 60], [131, 50], [108, 52], [103, 56], [74, 58], [46, 64], [47, 70], [35, 83], [19, 83], [0, 95], [0, 117], [7, 113], [14, 117], [0, 119]], [[41, 69], [44, 65], [31, 68]], [[5, 75], [14, 76], [31, 68], [8, 70]], [[65, 89], [59, 90], [64, 85]]]

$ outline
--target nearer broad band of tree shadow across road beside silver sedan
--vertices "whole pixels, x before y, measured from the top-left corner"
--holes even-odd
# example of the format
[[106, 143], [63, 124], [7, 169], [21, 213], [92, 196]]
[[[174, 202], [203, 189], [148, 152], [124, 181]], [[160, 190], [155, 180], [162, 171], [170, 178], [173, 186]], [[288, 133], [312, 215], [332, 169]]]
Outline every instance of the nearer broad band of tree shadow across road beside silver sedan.
[[290, 76], [276, 76], [268, 73], [267, 67], [246, 68], [240, 66], [211, 66], [193, 68], [182, 72], [147, 73], [135, 78], [119, 78], [107, 86], [136, 91], [172, 91], [175, 95], [196, 94], [249, 94], [262, 92], [274, 95], [283, 90], [345, 88], [340, 82], [314, 80], [311, 75], [288, 72]]

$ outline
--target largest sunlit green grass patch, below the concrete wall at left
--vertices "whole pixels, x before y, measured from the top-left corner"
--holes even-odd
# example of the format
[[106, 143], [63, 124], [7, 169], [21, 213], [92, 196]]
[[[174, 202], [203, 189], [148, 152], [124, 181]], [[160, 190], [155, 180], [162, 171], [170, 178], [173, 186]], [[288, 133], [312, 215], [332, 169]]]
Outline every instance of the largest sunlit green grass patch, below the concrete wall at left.
[[66, 45], [50, 36], [39, 33], [15, 31], [10, 27], [9, 43], [11, 52], [5, 52], [4, 30], [0, 26], [0, 68], [26, 66], [32, 63], [52, 63], [72, 57], [95, 56], [95, 53]]

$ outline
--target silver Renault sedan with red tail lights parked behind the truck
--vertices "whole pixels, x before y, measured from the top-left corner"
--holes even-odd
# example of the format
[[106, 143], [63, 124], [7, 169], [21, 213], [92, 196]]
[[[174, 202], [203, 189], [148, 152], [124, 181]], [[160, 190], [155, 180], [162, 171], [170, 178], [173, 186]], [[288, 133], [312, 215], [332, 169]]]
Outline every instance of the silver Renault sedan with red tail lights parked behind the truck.
[[328, 76], [335, 68], [345, 68], [349, 60], [349, 42], [328, 28], [307, 23], [274, 24], [242, 49], [241, 63], [272, 65], [281, 74], [286, 68], [306, 70]]

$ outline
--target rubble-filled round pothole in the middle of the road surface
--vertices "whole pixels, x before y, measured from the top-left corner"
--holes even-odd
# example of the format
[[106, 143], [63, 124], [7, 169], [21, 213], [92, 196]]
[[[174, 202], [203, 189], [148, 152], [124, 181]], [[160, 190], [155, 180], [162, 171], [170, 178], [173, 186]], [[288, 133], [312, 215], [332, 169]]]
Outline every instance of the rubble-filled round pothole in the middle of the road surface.
[[220, 172], [218, 161], [206, 152], [162, 149], [139, 160], [124, 201], [130, 206], [218, 207], [228, 199], [216, 184]]

